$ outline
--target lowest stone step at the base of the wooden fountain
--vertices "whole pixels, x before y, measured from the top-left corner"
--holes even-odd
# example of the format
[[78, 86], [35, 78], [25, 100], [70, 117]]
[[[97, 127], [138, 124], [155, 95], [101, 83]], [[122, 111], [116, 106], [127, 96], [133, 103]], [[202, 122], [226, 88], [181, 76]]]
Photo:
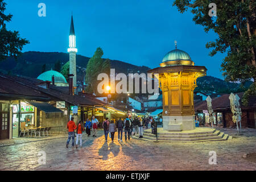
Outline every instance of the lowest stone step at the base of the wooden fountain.
[[[158, 139], [158, 142], [209, 142], [209, 141], [222, 141], [222, 140], [227, 140], [229, 138], [228, 134], [224, 134], [221, 133], [220, 134], [220, 138], [200, 138], [198, 140], [162, 140], [162, 139]], [[139, 139], [139, 140], [144, 140], [144, 141], [148, 141], [148, 142], [156, 142], [156, 138], [150, 137], [150, 138], [145, 138], [143, 136], [143, 138], [139, 138], [138, 136], [133, 136], [133, 139]]]

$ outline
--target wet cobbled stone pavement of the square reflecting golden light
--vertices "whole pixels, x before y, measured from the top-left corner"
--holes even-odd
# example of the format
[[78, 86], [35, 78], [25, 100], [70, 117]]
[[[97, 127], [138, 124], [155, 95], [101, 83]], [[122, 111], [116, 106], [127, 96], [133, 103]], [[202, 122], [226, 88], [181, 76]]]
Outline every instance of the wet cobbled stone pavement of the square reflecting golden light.
[[[83, 136], [82, 148], [65, 148], [67, 138], [0, 147], [0, 170], [256, 170], [256, 130], [218, 129], [232, 140], [200, 143], [155, 143], [131, 139], [114, 142]], [[123, 136], [124, 137], [124, 136]], [[110, 138], [108, 138], [110, 139]], [[71, 143], [70, 143], [71, 144]], [[39, 164], [38, 152], [46, 152]], [[209, 151], [217, 154], [210, 165]]]

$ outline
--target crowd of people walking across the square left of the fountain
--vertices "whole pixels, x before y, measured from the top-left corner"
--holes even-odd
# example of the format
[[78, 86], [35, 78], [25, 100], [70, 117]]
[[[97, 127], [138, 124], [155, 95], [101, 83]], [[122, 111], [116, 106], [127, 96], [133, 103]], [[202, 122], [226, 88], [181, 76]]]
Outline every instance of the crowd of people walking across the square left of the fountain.
[[[93, 137], [97, 137], [97, 127], [99, 125], [99, 121], [94, 116], [92, 117], [92, 121], [89, 118], [86, 119], [86, 122], [83, 123], [79, 121], [78, 125], [76, 126], [75, 122], [73, 121], [74, 118], [71, 118], [71, 121], [67, 124], [68, 129], [68, 140], [66, 147], [68, 148], [69, 142], [72, 138], [72, 147], [75, 146], [75, 135], [76, 135], [76, 148], [80, 141], [80, 146], [82, 146], [82, 132], [85, 131], [88, 137], [90, 137], [90, 133], [92, 130]], [[125, 133], [125, 141], [130, 140], [131, 135], [138, 134], [139, 138], [143, 138], [143, 130], [148, 129], [151, 127], [152, 133], [155, 133], [156, 122], [154, 118], [147, 117], [126, 117], [126, 118], [119, 118], [118, 121], [114, 122], [113, 120], [109, 121], [109, 118], [105, 118], [102, 122], [102, 128], [104, 130], [105, 135], [105, 142], [108, 141], [108, 136], [114, 141], [115, 132], [118, 133], [118, 142], [123, 142], [123, 132]], [[76, 131], [76, 134], [75, 134]]]

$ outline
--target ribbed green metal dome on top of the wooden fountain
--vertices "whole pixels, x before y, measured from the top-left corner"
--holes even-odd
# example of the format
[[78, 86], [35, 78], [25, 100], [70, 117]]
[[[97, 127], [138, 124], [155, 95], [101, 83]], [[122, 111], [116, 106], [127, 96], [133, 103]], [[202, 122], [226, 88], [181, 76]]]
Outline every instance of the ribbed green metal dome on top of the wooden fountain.
[[179, 60], [191, 60], [191, 57], [188, 55], [187, 52], [185, 51], [181, 51], [180, 49], [174, 49], [170, 52], [168, 52], [164, 58], [162, 62], [166, 62], [166, 61], [179, 61]]

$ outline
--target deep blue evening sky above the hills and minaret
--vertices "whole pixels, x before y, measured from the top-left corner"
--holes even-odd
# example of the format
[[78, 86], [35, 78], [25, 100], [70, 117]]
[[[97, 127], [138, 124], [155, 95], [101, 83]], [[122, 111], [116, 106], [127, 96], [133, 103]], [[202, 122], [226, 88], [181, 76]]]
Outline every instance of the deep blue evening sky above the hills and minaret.
[[[187, 52], [195, 65], [204, 65], [207, 75], [223, 78], [220, 65], [225, 55], [209, 56], [205, 44], [214, 32], [205, 33], [188, 11], [180, 14], [173, 1], [148, 0], [6, 0], [7, 24], [30, 44], [25, 51], [67, 52], [71, 12], [76, 32], [77, 54], [91, 57], [97, 47], [104, 58], [134, 65], [159, 67], [164, 55], [177, 48]], [[38, 16], [38, 4], [46, 4], [46, 17]]]

